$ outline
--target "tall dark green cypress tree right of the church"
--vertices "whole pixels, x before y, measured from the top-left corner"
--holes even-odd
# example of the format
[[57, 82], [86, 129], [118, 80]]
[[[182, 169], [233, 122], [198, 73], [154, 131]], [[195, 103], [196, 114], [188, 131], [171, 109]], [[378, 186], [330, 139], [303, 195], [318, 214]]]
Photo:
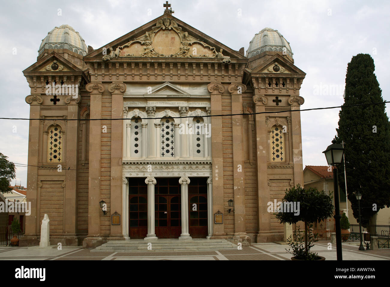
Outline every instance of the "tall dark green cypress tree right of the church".
[[[337, 142], [344, 141], [348, 199], [359, 221], [355, 194], [361, 193], [362, 225], [375, 225], [379, 209], [390, 207], [390, 124], [382, 91], [374, 74], [374, 60], [358, 54], [348, 63], [345, 101], [339, 113]], [[339, 168], [340, 188], [344, 189], [344, 166]], [[344, 189], [345, 193], [345, 189]], [[375, 207], [376, 206], [376, 210]]]

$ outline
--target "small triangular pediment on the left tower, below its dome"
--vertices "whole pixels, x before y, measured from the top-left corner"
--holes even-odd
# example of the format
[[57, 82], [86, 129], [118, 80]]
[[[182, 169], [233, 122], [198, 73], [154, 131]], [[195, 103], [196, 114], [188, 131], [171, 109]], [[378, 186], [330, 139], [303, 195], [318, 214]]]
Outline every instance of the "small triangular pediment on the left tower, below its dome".
[[37, 62], [32, 64], [30, 67], [25, 69], [25, 72], [83, 72], [80, 68], [69, 62], [67, 59], [62, 57], [56, 52], [48, 53], [46, 56], [39, 59]]

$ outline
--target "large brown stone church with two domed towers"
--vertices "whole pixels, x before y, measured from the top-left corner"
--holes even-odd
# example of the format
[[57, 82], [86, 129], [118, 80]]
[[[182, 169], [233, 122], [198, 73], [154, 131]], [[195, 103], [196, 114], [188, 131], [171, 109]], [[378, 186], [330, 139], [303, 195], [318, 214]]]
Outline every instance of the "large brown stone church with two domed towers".
[[265, 28], [232, 50], [168, 7], [97, 49], [55, 27], [23, 71], [34, 120], [20, 246], [39, 244], [44, 214], [51, 244], [87, 248], [289, 233], [267, 210], [303, 185], [305, 73], [289, 42]]

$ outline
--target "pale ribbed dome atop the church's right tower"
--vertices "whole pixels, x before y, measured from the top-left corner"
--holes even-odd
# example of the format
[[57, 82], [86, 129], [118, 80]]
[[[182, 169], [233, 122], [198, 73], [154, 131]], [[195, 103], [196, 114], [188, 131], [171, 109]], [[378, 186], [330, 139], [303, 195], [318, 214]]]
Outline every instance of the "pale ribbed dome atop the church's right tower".
[[254, 57], [265, 51], [283, 52], [293, 57], [290, 43], [284, 39], [283, 35], [272, 28], [264, 28], [255, 34], [252, 41], [249, 42], [249, 48], [246, 51], [246, 57]]

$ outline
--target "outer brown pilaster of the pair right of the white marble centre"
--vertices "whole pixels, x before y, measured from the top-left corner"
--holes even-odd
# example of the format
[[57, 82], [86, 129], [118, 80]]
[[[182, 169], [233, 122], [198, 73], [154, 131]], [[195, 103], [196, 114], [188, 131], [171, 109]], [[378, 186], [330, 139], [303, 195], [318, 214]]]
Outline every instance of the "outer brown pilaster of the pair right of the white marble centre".
[[[243, 114], [242, 93], [244, 84], [230, 84], [228, 91], [232, 94], [232, 114]], [[233, 134], [233, 184], [234, 184], [234, 243], [250, 244], [250, 237], [245, 228], [245, 182], [244, 182], [244, 125], [243, 116], [232, 116]]]

